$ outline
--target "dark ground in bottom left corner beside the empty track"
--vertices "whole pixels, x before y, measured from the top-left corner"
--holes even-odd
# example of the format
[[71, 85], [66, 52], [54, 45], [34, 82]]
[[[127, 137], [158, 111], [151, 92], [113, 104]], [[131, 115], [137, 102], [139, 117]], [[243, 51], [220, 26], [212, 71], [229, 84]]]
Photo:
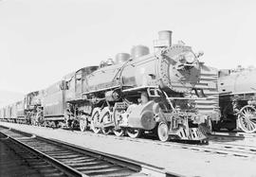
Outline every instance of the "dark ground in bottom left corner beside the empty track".
[[67, 176], [0, 133], [0, 176]]

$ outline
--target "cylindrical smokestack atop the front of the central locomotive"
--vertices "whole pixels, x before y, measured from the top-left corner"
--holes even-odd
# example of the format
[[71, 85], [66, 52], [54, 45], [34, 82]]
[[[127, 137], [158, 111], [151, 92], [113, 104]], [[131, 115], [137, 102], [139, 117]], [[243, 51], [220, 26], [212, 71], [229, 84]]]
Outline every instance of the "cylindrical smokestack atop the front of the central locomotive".
[[154, 46], [169, 47], [172, 45], [172, 30], [161, 30], [158, 32], [158, 40], [154, 41]]

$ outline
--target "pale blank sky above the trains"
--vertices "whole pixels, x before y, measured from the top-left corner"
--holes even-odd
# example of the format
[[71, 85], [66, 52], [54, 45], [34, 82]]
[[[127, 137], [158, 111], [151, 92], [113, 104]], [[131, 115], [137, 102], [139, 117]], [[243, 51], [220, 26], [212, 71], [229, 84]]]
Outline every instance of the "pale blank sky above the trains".
[[26, 94], [172, 30], [201, 61], [256, 66], [256, 1], [0, 0], [0, 90]]

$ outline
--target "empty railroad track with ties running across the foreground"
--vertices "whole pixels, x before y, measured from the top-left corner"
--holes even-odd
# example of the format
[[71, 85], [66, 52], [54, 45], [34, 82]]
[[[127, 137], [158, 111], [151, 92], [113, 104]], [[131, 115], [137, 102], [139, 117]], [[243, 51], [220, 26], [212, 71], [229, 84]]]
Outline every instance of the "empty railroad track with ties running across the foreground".
[[0, 134], [1, 142], [9, 143], [20, 154], [30, 154], [27, 158], [21, 156], [26, 160], [31, 159], [31, 164], [38, 165], [37, 170], [41, 171], [43, 176], [181, 176], [131, 159], [2, 126]]

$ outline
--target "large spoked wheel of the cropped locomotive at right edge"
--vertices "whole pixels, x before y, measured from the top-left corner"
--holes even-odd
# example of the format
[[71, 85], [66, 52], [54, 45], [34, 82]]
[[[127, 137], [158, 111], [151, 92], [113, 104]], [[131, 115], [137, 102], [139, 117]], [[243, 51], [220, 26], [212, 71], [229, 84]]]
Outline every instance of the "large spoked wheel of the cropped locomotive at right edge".
[[238, 115], [240, 128], [245, 133], [256, 132], [256, 110], [252, 106], [245, 106]]

